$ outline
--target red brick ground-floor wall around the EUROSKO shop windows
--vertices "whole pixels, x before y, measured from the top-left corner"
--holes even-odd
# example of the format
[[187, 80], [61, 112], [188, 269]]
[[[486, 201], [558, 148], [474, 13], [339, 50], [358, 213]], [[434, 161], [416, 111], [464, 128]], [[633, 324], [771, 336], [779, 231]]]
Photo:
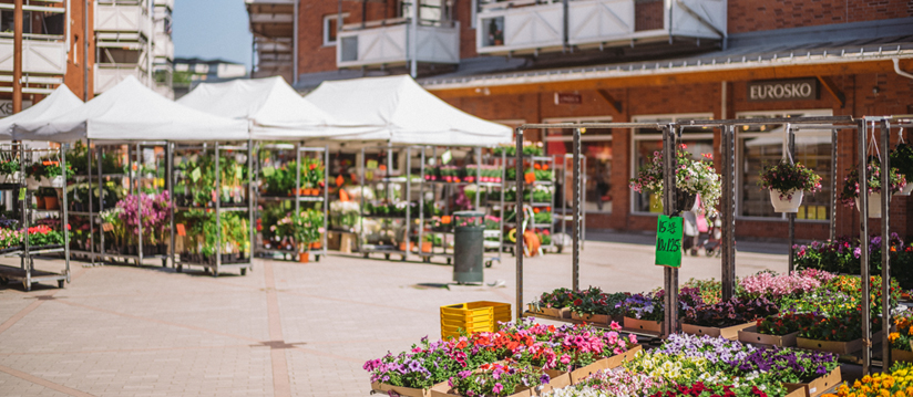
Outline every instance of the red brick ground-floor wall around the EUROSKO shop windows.
[[[488, 119], [523, 119], [526, 123], [537, 123], [547, 118], [560, 117], [604, 117], [612, 116], [614, 122], [633, 121], [636, 115], [649, 114], [687, 114], [711, 113], [715, 118], [735, 117], [739, 112], [783, 111], [783, 109], [821, 109], [830, 108], [834, 115], [885, 115], [906, 113], [907, 106], [913, 103], [913, 80], [903, 79], [894, 73], [831, 76], [834, 86], [845, 95], [843, 107], [825, 90], [813, 101], [794, 102], [747, 102], [747, 82], [727, 83], [728, 112], [721, 114], [721, 84], [691, 84], [670, 85], [660, 87], [632, 87], [609, 90], [608, 93], [622, 102], [623, 109], [616, 112], [595, 91], [578, 92], [583, 102], [579, 105], [555, 105], [554, 93], [501, 95], [488, 97], [450, 98], [452, 105]], [[878, 94], [873, 87], [878, 86]], [[630, 192], [627, 180], [630, 178], [630, 145], [629, 129], [614, 129], [613, 159], [612, 159], [612, 196], [613, 212], [611, 215], [592, 213], [587, 216], [587, 226], [591, 228], [612, 228], [619, 230], [654, 230], [656, 217], [630, 215]], [[537, 132], [527, 132], [527, 138], [541, 139]], [[716, 158], [719, 159], [719, 132], [715, 132]], [[907, 138], [911, 137], [906, 133]], [[892, 145], [896, 140], [896, 130], [892, 136]], [[853, 130], [842, 130], [838, 136], [838, 189], [850, 167], [856, 159], [856, 135]], [[719, 163], [719, 161], [718, 161]], [[719, 164], [718, 164], [719, 166]], [[892, 200], [891, 226], [892, 230], [902, 236], [913, 236], [912, 197], [894, 197]], [[837, 209], [838, 236], [859, 234], [859, 213], [855, 208], [838, 206]], [[871, 231], [880, 232], [880, 221], [871, 221]], [[798, 239], [827, 239], [828, 223], [797, 222], [796, 236]], [[786, 221], [737, 221], [738, 237], [757, 237], [782, 239], [788, 236]]]

